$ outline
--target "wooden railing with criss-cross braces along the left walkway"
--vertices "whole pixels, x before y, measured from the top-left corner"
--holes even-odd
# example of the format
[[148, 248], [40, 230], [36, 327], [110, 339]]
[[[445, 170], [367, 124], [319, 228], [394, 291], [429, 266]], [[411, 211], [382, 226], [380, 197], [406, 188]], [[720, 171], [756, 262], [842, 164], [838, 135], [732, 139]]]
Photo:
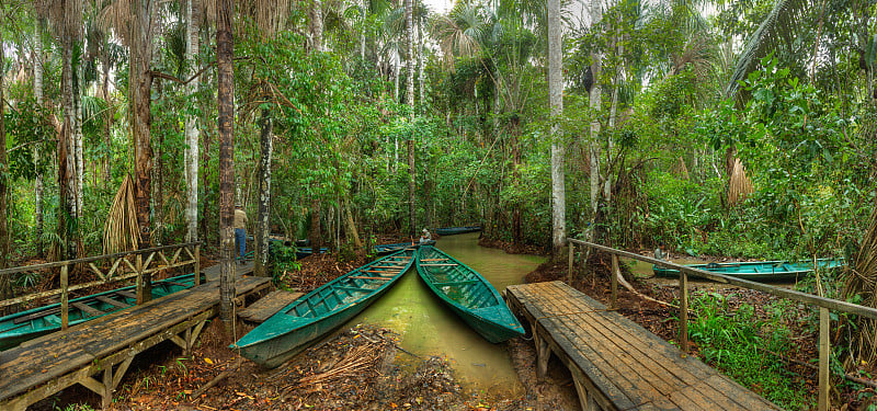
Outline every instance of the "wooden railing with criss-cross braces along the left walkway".
[[[169, 258], [170, 256], [170, 258]], [[98, 264], [104, 263], [105, 269]], [[77, 260], [65, 260], [54, 263], [24, 265], [12, 269], [0, 270], [0, 276], [12, 276], [25, 272], [39, 272], [60, 269], [60, 287], [25, 296], [0, 300], [0, 307], [11, 306], [31, 301], [38, 298], [52, 297], [60, 294], [60, 315], [61, 330], [68, 326], [68, 302], [70, 292], [93, 287], [102, 284], [121, 282], [132, 277], [137, 277], [137, 304], [148, 300], [144, 295], [144, 275], [157, 273], [162, 270], [193, 266], [194, 273], [201, 272], [201, 242], [187, 242], [183, 244], [172, 244], [156, 247], [151, 249], [121, 252], [115, 254], [89, 256]], [[69, 284], [70, 267], [80, 266], [94, 273], [100, 279], [82, 284]], [[195, 275], [195, 285], [201, 283], [201, 276]]]

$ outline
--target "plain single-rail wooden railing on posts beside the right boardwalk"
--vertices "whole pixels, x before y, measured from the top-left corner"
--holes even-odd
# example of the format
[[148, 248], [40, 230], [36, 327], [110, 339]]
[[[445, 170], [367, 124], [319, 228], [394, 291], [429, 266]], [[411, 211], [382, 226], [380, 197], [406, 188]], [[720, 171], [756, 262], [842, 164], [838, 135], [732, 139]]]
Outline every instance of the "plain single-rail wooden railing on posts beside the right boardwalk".
[[819, 406], [818, 410], [829, 409], [829, 331], [831, 327], [829, 310], [853, 313], [863, 316], [870, 319], [877, 319], [877, 309], [859, 306], [852, 302], [841, 301], [833, 298], [824, 298], [811, 294], [796, 292], [794, 289], [782, 288], [768, 284], [755, 283], [748, 279], [729, 277], [722, 274], [710, 273], [708, 271], [693, 269], [686, 265], [671, 263], [664, 260], [652, 259], [645, 255], [639, 255], [628, 251], [616, 250], [610, 247], [595, 244], [593, 242], [568, 239], [569, 242], [569, 272], [572, 275], [573, 255], [576, 253], [576, 246], [583, 248], [592, 248], [600, 251], [605, 251], [612, 254], [612, 296], [611, 306], [617, 308], [618, 298], [618, 256], [626, 256], [634, 260], [645, 261], [650, 264], [679, 270], [679, 287], [680, 287], [680, 305], [679, 305], [679, 319], [680, 319], [680, 349], [683, 355], [688, 352], [688, 275], [694, 275], [701, 278], [711, 279], [717, 283], [725, 283], [736, 285], [742, 288], [755, 289], [759, 292], [775, 295], [777, 297], [790, 299], [798, 302], [804, 302], [810, 306], [819, 307]]

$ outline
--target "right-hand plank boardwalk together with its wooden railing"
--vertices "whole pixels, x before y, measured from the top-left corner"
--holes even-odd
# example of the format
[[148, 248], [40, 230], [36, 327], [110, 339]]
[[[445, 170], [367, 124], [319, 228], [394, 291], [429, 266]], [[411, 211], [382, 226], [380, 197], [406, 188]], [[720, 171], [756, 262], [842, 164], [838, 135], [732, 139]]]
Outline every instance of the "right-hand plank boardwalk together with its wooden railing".
[[[610, 307], [561, 282], [509, 286], [505, 297], [533, 331], [537, 374], [554, 354], [570, 369], [584, 410], [774, 410], [775, 404], [688, 356], [688, 276], [790, 299], [819, 311], [817, 410], [829, 410], [830, 311], [877, 320], [877, 309], [794, 289], [729, 277], [588, 241], [569, 239], [569, 272], [577, 249], [612, 255]], [[614, 311], [622, 282], [618, 258], [680, 272], [679, 346], [671, 345]], [[583, 258], [582, 261], [586, 261]], [[848, 376], [844, 376], [848, 377]]]

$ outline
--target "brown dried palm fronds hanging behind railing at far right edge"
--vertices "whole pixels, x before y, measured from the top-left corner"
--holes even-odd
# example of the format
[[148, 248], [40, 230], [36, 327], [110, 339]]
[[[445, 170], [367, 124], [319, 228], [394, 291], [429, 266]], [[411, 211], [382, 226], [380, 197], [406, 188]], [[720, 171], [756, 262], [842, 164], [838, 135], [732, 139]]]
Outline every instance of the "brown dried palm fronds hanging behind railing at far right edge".
[[[877, 307], [877, 204], [870, 214], [868, 231], [862, 239], [855, 265], [846, 274], [843, 298], [861, 298], [859, 304]], [[850, 346], [853, 349], [847, 366], [858, 366], [862, 362], [874, 364], [877, 361], [877, 321], [859, 317], [851, 334]]]

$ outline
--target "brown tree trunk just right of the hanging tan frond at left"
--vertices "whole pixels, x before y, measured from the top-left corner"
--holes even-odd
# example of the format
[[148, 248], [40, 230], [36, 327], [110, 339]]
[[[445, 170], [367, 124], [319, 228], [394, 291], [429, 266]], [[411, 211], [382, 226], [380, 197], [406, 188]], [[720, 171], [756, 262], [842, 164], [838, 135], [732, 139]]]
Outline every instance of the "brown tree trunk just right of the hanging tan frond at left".
[[[149, 206], [152, 196], [152, 142], [150, 136], [150, 105], [152, 76], [149, 64], [152, 61], [151, 16], [152, 0], [134, 0], [130, 47], [129, 92], [132, 94], [132, 134], [134, 136], [134, 195], [137, 226], [140, 232], [140, 249], [152, 247], [152, 232], [149, 226]], [[143, 301], [152, 298], [152, 276], [144, 274]]]

